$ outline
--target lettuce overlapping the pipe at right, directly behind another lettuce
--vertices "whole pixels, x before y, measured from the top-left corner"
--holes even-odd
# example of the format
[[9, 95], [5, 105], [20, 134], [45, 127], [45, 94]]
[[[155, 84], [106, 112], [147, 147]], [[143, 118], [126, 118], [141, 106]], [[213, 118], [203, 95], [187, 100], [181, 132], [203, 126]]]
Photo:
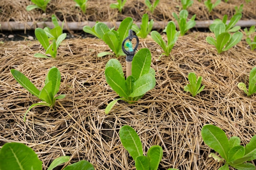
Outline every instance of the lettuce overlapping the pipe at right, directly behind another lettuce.
[[222, 20], [216, 19], [213, 21], [213, 23], [210, 25], [210, 31], [214, 32], [214, 28], [217, 24], [223, 23], [225, 24], [225, 32], [237, 32], [241, 27], [235, 26], [235, 24], [241, 19], [242, 14], [237, 13], [233, 15], [233, 17], [230, 19], [229, 24], [227, 24], [227, 15], [224, 15]]

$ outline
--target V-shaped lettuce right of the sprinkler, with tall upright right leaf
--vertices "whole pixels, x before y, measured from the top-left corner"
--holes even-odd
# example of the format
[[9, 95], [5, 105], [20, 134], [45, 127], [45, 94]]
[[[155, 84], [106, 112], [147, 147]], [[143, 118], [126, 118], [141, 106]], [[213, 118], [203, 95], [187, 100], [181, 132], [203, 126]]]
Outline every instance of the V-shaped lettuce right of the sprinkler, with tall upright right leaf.
[[176, 31], [176, 26], [173, 21], [168, 22], [166, 26], [167, 45], [162, 39], [160, 33], [158, 33], [157, 31], [151, 32], [151, 37], [155, 42], [157, 42], [157, 44], [159, 44], [159, 46], [162, 47], [162, 49], [164, 50], [163, 54], [166, 56], [169, 56], [169, 54], [171, 53], [173, 46], [177, 41], [179, 35], [180, 31]]

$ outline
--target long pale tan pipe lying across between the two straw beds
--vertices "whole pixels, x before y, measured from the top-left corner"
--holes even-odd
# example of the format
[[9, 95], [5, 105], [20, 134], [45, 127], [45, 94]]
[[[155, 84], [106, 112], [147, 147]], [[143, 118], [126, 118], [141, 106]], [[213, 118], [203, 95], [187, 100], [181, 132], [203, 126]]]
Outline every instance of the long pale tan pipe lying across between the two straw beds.
[[[206, 21], [195, 21], [195, 28], [209, 28], [210, 24], [213, 23], [213, 20], [206, 20]], [[228, 23], [229, 21], [227, 21]], [[103, 22], [108, 27], [119, 27], [121, 22]], [[164, 29], [168, 22], [164, 21], [155, 21], [153, 25], [153, 30], [157, 29]], [[36, 28], [44, 28], [46, 26], [53, 28], [54, 25], [52, 22], [0, 22], [1, 27], [0, 30], [3, 31], [20, 31], [20, 30], [34, 30]], [[61, 25], [62, 22], [59, 22]], [[63, 30], [83, 30], [83, 26], [88, 25], [90, 27], [94, 26], [96, 22], [88, 21], [88, 22], [66, 22], [64, 24]], [[136, 22], [139, 26], [141, 22]], [[250, 27], [252, 25], [256, 25], [256, 20], [240, 20], [236, 23], [237, 26], [243, 27]]]

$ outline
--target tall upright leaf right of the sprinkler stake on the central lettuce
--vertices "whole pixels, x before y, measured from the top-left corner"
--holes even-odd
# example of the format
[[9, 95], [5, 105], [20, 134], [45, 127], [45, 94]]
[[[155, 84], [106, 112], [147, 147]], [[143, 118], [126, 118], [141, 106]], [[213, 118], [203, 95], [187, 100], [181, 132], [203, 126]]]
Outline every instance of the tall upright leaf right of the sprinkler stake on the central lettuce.
[[132, 60], [132, 76], [139, 79], [144, 74], [149, 72], [151, 64], [151, 53], [149, 49], [140, 49]]

